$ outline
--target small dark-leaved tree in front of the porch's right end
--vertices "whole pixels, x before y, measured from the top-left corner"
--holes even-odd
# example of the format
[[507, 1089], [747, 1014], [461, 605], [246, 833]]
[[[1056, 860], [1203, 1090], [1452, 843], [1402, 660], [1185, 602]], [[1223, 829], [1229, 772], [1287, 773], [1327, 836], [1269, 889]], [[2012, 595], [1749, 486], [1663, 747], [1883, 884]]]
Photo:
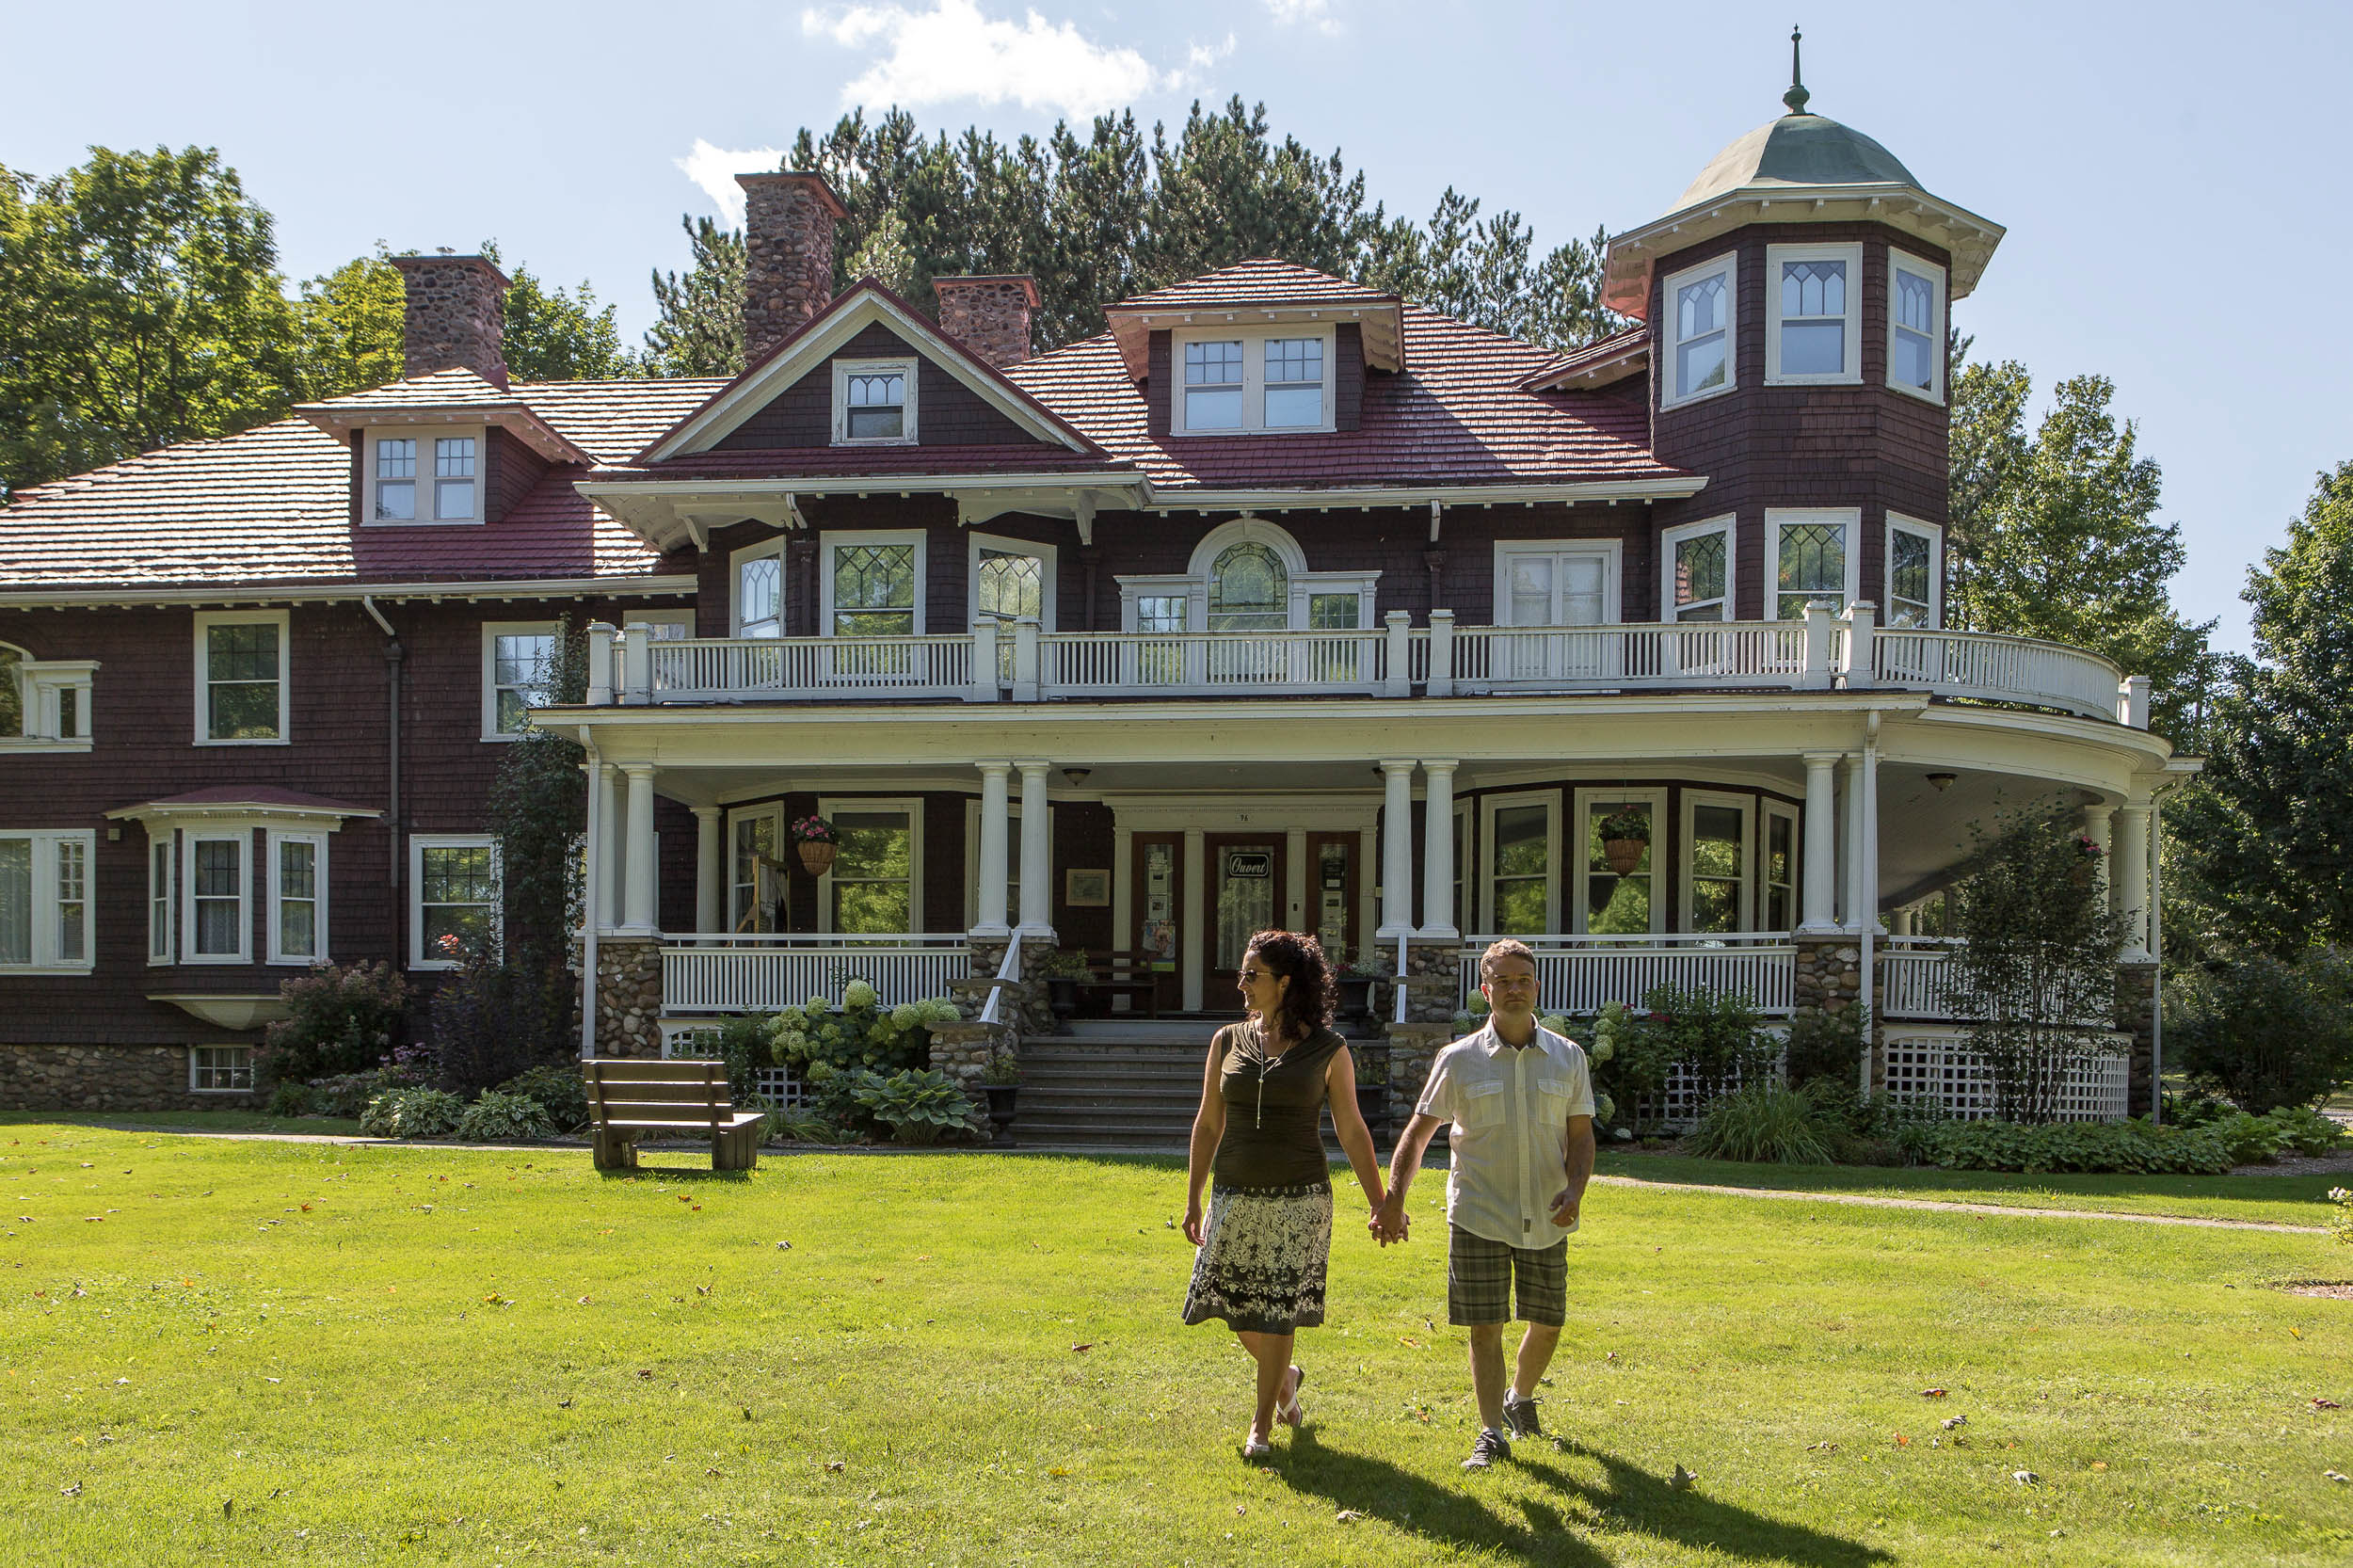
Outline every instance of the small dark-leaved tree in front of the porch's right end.
[[2125, 916], [2108, 909], [2099, 845], [2064, 808], [2009, 815], [1977, 831], [1953, 890], [1951, 994], [1986, 1059], [2007, 1121], [2052, 1121], [2075, 1057], [2120, 1050], [2115, 961]]

